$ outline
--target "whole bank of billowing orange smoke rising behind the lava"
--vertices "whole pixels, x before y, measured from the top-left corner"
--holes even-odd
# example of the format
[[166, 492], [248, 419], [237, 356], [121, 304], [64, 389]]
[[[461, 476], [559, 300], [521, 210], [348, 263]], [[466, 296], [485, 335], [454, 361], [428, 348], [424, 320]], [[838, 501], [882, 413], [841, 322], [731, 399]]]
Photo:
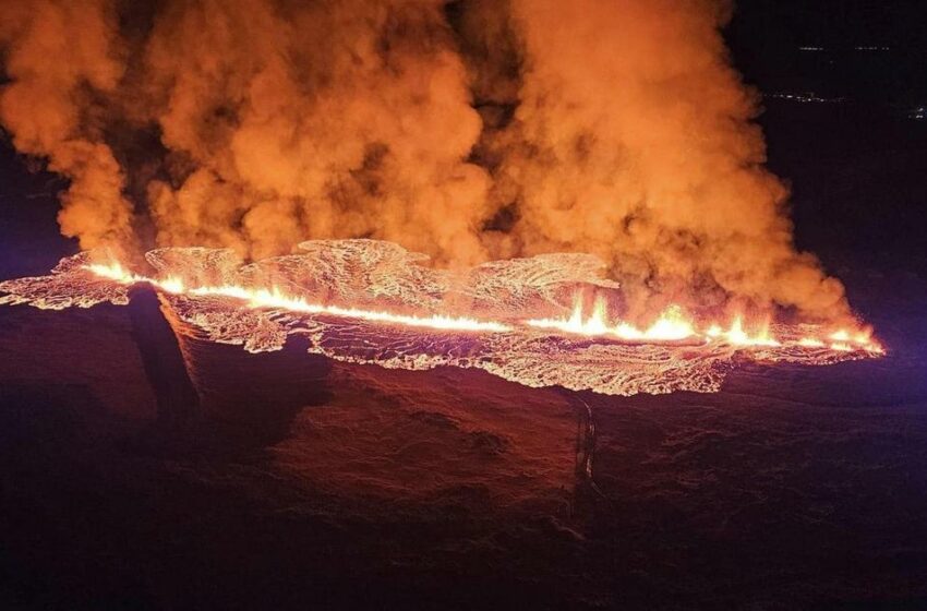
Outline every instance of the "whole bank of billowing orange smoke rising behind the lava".
[[725, 2], [7, 4], [0, 119], [71, 179], [60, 220], [82, 247], [582, 251], [631, 313], [847, 312], [794, 248]]

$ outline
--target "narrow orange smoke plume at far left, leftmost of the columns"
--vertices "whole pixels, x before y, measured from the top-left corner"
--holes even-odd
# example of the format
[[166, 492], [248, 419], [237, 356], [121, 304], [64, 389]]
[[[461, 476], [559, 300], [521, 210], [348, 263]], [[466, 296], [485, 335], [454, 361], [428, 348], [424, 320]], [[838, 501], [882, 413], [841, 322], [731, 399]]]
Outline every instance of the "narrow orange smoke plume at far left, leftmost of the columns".
[[123, 175], [104, 139], [100, 98], [123, 75], [113, 15], [103, 2], [5, 2], [0, 45], [10, 84], [0, 120], [13, 144], [71, 179], [58, 216], [87, 248], [131, 240]]

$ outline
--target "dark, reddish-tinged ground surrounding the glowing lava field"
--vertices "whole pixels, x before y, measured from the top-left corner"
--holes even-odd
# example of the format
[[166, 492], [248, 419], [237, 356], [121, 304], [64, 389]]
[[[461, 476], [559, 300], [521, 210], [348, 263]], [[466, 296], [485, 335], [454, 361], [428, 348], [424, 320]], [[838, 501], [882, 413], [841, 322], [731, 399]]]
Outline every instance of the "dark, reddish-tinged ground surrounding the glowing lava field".
[[[880, 360], [624, 398], [193, 345], [191, 382], [153, 296], [0, 308], [0, 607], [927, 608], [927, 122], [900, 104], [761, 118]], [[0, 157], [0, 277], [44, 274], [63, 183]]]

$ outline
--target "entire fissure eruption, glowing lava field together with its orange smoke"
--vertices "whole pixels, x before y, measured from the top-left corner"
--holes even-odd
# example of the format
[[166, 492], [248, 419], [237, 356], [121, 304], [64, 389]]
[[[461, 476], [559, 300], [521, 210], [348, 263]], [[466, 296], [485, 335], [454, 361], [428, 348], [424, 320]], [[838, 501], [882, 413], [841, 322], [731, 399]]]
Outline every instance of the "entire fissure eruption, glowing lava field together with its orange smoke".
[[148, 284], [179, 333], [251, 352], [300, 336], [336, 360], [606, 394], [714, 391], [741, 357], [878, 356], [794, 245], [730, 15], [13, 1], [0, 120], [70, 180], [59, 221], [86, 250], [0, 302], [119, 304]]

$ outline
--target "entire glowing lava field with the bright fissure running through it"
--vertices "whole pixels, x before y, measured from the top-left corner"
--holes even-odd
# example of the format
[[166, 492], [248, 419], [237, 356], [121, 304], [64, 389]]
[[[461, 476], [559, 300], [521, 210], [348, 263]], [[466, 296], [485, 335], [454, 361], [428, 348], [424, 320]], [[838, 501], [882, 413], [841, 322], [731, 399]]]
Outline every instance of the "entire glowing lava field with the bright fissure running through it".
[[[830, 364], [883, 354], [864, 328], [749, 327], [742, 315], [700, 324], [679, 306], [647, 325], [619, 320], [604, 297], [619, 289], [600, 276], [602, 264], [591, 255], [449, 272], [419, 265], [420, 255], [389, 242], [317, 240], [301, 248], [248, 265], [228, 250], [160, 249], [146, 254], [152, 275], [84, 252], [48, 276], [0, 283], [0, 303], [124, 304], [129, 288], [146, 283], [178, 321], [249, 352], [279, 350], [299, 336], [308, 352], [340, 361], [479, 368], [528, 386], [615, 395], [713, 392], [738, 358]], [[598, 297], [587, 309], [582, 296], [590, 292]]]

